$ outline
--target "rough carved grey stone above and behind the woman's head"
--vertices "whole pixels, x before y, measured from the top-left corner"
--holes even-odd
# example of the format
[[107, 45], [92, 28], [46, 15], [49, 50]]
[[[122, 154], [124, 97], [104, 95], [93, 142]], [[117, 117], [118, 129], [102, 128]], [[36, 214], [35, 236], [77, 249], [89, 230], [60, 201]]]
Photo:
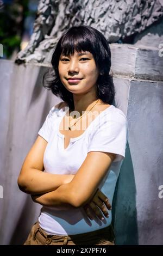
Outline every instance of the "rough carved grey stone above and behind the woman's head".
[[34, 33], [20, 62], [49, 62], [62, 32], [88, 25], [101, 31], [109, 42], [140, 33], [163, 16], [161, 0], [41, 0]]

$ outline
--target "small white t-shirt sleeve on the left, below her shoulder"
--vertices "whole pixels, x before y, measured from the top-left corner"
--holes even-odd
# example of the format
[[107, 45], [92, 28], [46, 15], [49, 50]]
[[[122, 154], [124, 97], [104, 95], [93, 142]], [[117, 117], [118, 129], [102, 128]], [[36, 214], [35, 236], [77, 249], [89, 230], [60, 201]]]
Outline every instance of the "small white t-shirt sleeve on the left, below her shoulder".
[[47, 142], [52, 132], [52, 128], [55, 122], [55, 106], [51, 108], [49, 111], [41, 129], [38, 131], [38, 135], [40, 135]]

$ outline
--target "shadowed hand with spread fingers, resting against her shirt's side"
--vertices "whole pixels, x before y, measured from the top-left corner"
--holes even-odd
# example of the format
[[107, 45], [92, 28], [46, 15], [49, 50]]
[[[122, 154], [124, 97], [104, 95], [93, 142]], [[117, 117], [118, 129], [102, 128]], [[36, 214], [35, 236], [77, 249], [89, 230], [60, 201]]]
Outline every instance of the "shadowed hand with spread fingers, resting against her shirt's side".
[[84, 205], [83, 208], [91, 220], [93, 220], [92, 211], [100, 220], [104, 220], [103, 214], [105, 217], [109, 217], [108, 210], [111, 210], [111, 205], [105, 194], [98, 189], [90, 202]]

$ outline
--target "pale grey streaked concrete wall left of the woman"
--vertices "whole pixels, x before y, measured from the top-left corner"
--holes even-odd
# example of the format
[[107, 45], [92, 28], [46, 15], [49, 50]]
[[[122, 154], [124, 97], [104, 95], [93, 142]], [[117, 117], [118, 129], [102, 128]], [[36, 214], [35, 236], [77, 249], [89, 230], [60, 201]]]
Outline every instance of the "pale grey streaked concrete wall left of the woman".
[[42, 87], [40, 66], [0, 61], [0, 244], [21, 244], [39, 214], [40, 205], [21, 192], [17, 177], [49, 109], [60, 100]]

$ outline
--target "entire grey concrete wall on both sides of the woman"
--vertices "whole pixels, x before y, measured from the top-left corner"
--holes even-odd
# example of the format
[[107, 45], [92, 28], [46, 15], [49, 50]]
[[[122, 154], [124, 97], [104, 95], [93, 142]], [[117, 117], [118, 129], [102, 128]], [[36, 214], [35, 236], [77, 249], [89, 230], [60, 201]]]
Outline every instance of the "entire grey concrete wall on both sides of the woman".
[[[111, 45], [115, 105], [127, 114], [126, 159], [114, 197], [118, 245], [162, 245], [162, 58], [152, 49]], [[143, 53], [143, 54], [142, 54]], [[141, 55], [142, 54], [142, 55]], [[20, 192], [17, 176], [49, 109], [60, 102], [42, 87], [45, 67], [0, 62], [0, 244], [21, 244], [40, 206]]]

